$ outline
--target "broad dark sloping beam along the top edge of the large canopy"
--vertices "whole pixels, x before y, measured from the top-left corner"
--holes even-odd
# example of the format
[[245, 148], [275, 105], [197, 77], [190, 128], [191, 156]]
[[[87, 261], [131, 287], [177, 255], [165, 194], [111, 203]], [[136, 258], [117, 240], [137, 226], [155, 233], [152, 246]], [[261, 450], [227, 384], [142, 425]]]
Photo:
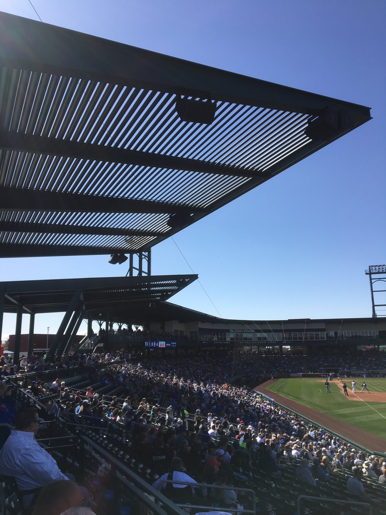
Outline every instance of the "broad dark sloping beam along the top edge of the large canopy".
[[0, 13], [0, 66], [176, 95], [202, 97], [210, 91], [216, 100], [299, 113], [318, 114], [326, 106], [359, 113], [366, 109], [4, 12]]

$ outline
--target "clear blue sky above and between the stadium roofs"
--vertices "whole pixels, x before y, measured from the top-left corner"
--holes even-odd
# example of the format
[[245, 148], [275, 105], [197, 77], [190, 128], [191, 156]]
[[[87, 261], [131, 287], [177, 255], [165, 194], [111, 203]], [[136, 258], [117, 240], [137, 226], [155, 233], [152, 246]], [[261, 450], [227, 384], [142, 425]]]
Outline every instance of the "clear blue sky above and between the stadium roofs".
[[[224, 318], [371, 316], [364, 269], [386, 261], [384, 0], [32, 3], [43, 22], [371, 107], [369, 123], [174, 237]], [[0, 10], [37, 19], [28, 0]], [[108, 256], [0, 264], [2, 280], [127, 272]], [[171, 239], [152, 273], [190, 273]], [[197, 282], [171, 301], [217, 315]], [[37, 316], [35, 332], [60, 319]], [[3, 335], [14, 323], [5, 315]]]

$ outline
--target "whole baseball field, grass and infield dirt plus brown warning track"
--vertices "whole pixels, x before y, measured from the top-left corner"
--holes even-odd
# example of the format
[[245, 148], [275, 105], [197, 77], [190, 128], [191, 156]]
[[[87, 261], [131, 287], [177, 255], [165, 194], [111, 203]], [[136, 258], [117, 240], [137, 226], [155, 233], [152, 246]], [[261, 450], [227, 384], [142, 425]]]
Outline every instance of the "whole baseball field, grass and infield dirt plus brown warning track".
[[330, 381], [328, 393], [325, 380], [316, 377], [267, 381], [256, 390], [367, 449], [385, 452], [386, 379], [364, 381], [370, 393], [365, 390], [360, 393], [363, 382], [360, 377], [355, 379], [356, 392], [352, 393], [352, 379], [346, 378], [348, 397], [343, 382]]

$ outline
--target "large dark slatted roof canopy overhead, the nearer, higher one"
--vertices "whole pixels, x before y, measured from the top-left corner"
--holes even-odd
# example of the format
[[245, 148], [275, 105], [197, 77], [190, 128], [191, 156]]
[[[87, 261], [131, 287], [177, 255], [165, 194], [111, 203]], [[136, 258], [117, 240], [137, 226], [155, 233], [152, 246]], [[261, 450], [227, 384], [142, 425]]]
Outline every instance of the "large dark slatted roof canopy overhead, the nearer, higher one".
[[0, 13], [0, 256], [146, 251], [369, 119]]

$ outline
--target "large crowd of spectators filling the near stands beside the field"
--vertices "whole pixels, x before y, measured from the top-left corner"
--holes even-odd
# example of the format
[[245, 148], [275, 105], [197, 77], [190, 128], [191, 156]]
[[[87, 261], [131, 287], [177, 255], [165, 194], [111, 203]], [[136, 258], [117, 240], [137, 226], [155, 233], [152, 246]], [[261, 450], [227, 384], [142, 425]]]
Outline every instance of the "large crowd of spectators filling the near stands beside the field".
[[[245, 371], [253, 367], [251, 358], [259, 356], [247, 354], [235, 364], [236, 368]], [[291, 356], [285, 366], [296, 363], [296, 358], [299, 356]], [[160, 476], [153, 486], [163, 488], [174, 500], [179, 495], [184, 502], [192, 498], [196, 482], [232, 486], [235, 478], [249, 479], [255, 468], [279, 478], [293, 461], [300, 465], [296, 482], [313, 486], [328, 483], [330, 476], [339, 471], [352, 472], [347, 489], [353, 499], [370, 498], [360, 481], [363, 475], [386, 482], [386, 464], [381, 459], [357, 452], [343, 439], [299, 415], [248, 388], [231, 384], [231, 356], [156, 356], [122, 363], [111, 355], [94, 354], [87, 360], [90, 367], [102, 364], [95, 370], [96, 381], [120, 386], [124, 397], [107, 401], [91, 385], [74, 391], [59, 379], [50, 384], [36, 381], [30, 393], [38, 397], [51, 392], [54, 399], [39, 412], [23, 408], [16, 415], [9, 388], [0, 383], [0, 404], [9, 417], [7, 424], [14, 425], [3, 442], [0, 469], [14, 475], [19, 489], [24, 491], [26, 505], [32, 502], [34, 493], [51, 492], [59, 482], [65, 482], [68, 491], [73, 491], [71, 498], [76, 498], [69, 508], [79, 506], [80, 499], [86, 500], [87, 493], [77, 490], [75, 478], [62, 474], [55, 460], [34, 440], [40, 423], [55, 418], [71, 421], [77, 415], [89, 418], [93, 426], [103, 420], [125, 426], [132, 435], [135, 459]], [[163, 483], [168, 477], [185, 480], [192, 488], [177, 492]], [[49, 486], [52, 481], [55, 484]], [[216, 495], [221, 495], [224, 506], [242, 506], [245, 501], [235, 490], [219, 492], [213, 490], [210, 495], [214, 501]], [[37, 505], [43, 501], [38, 498]], [[67, 504], [60, 506], [62, 509]]]

